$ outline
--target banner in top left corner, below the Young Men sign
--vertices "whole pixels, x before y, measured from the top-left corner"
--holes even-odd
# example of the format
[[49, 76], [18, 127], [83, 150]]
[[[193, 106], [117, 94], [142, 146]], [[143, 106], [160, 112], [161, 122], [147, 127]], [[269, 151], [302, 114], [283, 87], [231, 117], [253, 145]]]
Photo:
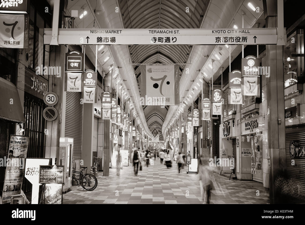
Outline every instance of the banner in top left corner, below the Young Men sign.
[[[12, 2], [1, 0], [0, 3], [1, 10], [5, 3]], [[0, 48], [28, 48], [29, 25], [28, 15], [0, 14]]]

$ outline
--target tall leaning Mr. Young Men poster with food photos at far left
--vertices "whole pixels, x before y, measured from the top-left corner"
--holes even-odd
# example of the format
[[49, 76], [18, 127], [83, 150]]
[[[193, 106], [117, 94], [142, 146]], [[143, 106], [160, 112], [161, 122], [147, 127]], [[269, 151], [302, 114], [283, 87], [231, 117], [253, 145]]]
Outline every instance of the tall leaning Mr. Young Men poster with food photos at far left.
[[12, 195], [21, 193], [25, 170], [24, 161], [27, 157], [28, 144], [29, 137], [11, 135], [3, 185], [2, 203], [10, 202]]

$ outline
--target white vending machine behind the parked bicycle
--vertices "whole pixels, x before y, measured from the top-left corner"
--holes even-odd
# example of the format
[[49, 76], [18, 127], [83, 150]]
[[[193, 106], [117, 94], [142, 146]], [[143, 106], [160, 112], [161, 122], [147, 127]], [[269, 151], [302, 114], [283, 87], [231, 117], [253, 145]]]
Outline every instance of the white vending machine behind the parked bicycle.
[[73, 138], [59, 139], [58, 164], [63, 166], [63, 192], [71, 190], [72, 185], [72, 158]]

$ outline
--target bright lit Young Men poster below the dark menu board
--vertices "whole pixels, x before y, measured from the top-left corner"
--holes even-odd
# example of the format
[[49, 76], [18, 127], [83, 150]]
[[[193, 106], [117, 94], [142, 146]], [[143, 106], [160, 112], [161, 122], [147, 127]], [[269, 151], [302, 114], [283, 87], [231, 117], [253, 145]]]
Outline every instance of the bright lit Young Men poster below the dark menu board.
[[62, 184], [45, 184], [45, 204], [61, 204], [62, 194]]

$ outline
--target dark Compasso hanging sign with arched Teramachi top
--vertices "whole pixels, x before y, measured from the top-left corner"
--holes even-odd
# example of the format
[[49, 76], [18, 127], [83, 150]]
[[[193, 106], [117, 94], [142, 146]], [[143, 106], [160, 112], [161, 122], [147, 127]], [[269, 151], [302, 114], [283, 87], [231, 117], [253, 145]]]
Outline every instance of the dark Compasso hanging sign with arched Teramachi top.
[[66, 53], [66, 72], [83, 72], [84, 71], [84, 54], [79, 51]]

